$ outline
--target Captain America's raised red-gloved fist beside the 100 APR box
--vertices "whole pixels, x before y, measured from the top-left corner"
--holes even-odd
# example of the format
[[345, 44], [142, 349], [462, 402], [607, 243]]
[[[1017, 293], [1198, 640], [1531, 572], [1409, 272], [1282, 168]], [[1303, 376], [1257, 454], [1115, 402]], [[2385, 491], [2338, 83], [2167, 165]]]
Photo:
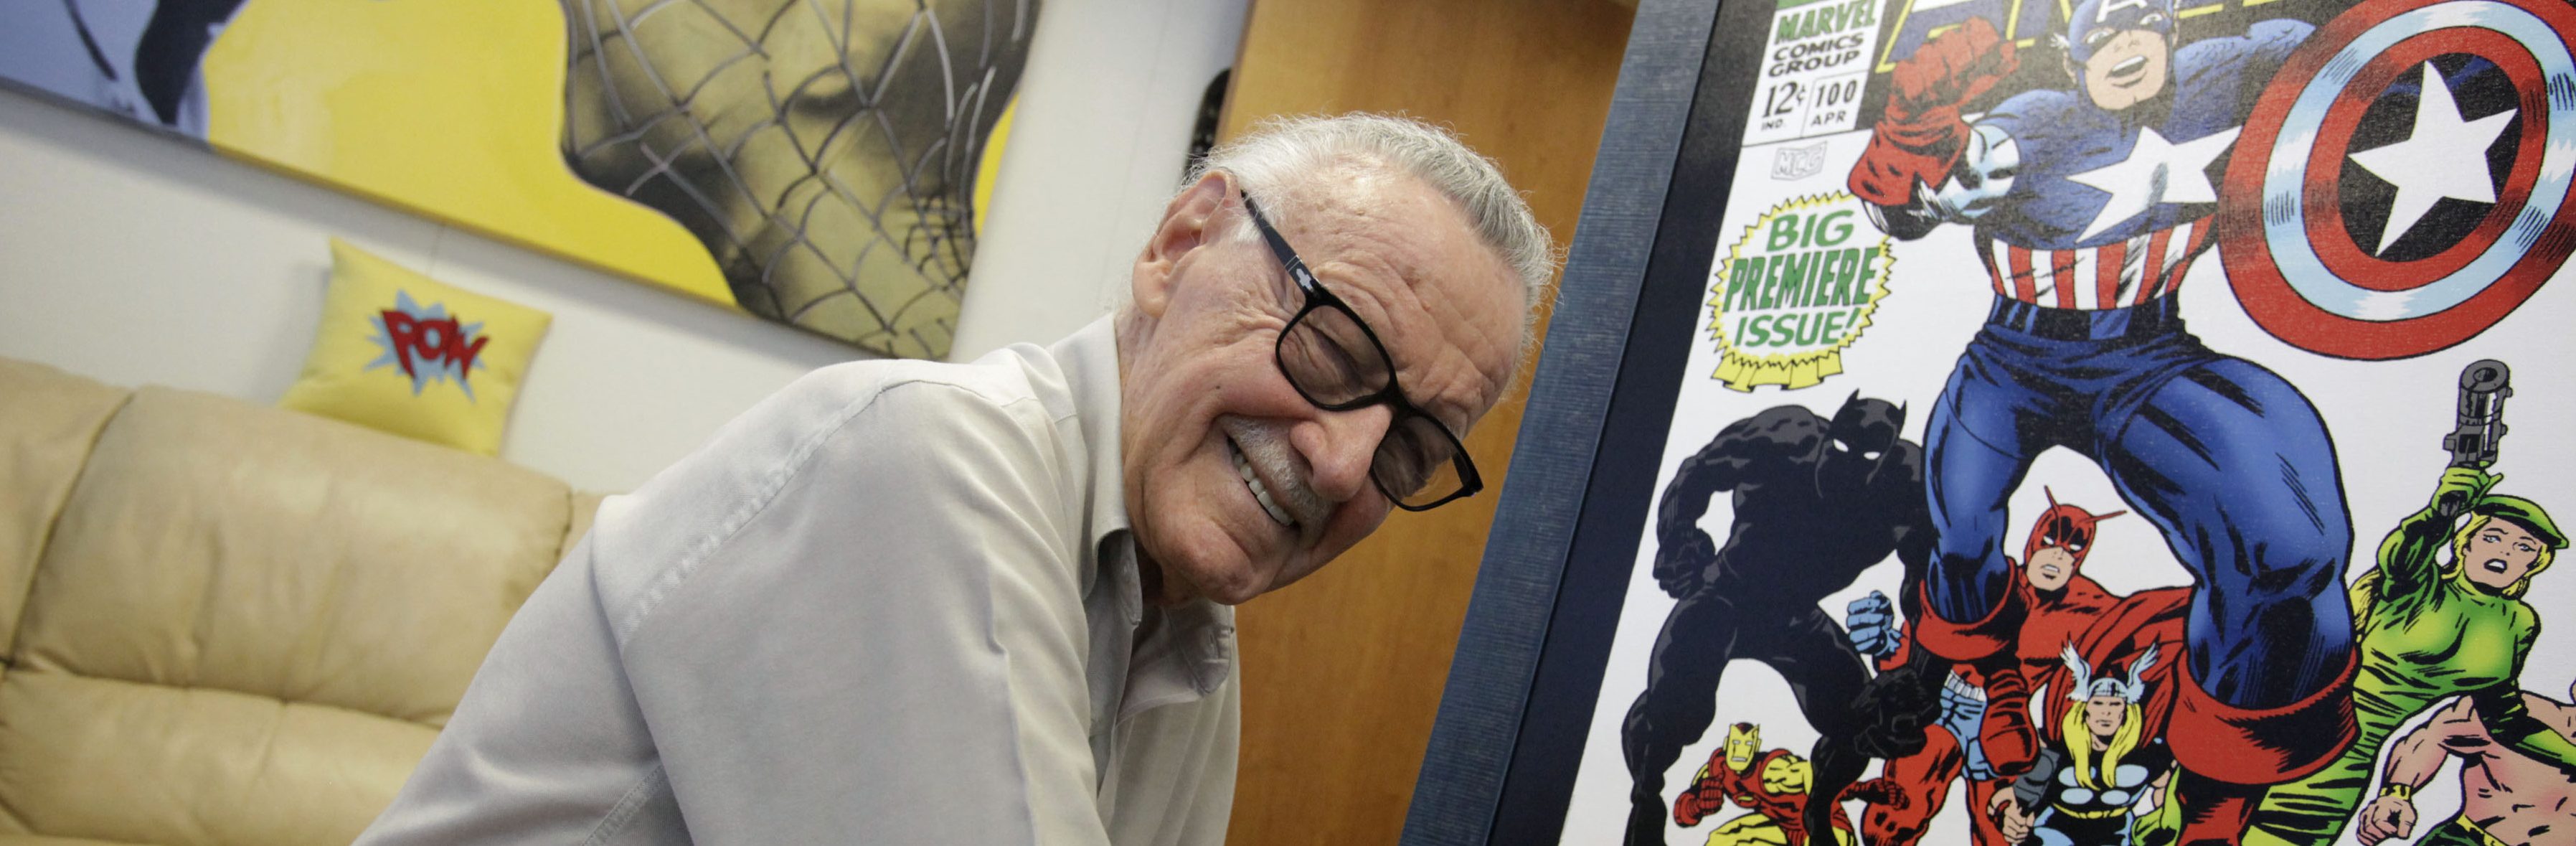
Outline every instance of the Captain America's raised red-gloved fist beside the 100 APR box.
[[1914, 183], [1940, 186], [1968, 142], [1963, 106], [2002, 83], [2020, 62], [1986, 18], [1968, 18], [1896, 62], [1888, 106], [1870, 132], [1870, 150], [1852, 165], [1855, 196], [1904, 206]]

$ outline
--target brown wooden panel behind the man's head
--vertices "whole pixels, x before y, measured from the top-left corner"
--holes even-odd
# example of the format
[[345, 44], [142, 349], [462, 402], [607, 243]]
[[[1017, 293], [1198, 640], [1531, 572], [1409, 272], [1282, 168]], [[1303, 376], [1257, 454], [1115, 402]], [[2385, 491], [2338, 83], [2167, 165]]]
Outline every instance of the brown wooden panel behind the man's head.
[[[1631, 18], [1613, 0], [1255, 3], [1221, 134], [1340, 111], [1445, 124], [1502, 162], [1564, 248]], [[1229, 843], [1396, 841], [1522, 389], [1468, 436], [1484, 495], [1399, 511], [1314, 578], [1239, 609], [1244, 751]]]

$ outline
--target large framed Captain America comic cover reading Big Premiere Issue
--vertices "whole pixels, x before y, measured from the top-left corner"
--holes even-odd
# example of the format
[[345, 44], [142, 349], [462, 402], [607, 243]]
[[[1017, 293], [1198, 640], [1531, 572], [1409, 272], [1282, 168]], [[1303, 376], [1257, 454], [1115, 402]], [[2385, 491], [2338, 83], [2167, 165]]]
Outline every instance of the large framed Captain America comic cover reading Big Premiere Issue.
[[2576, 843], [2571, 41], [1643, 3], [1406, 841]]

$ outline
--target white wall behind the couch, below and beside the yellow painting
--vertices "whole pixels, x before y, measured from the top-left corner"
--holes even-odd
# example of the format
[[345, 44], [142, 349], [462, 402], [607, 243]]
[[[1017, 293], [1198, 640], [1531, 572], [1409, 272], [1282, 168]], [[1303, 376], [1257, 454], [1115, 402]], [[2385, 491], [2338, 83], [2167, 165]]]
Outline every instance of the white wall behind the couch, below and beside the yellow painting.
[[[956, 356], [1105, 312], [1100, 268], [1141, 242], [1239, 39], [1242, 0], [1046, 3]], [[276, 402], [332, 235], [554, 312], [502, 459], [582, 490], [631, 490], [799, 374], [868, 356], [0, 90], [0, 356]]]

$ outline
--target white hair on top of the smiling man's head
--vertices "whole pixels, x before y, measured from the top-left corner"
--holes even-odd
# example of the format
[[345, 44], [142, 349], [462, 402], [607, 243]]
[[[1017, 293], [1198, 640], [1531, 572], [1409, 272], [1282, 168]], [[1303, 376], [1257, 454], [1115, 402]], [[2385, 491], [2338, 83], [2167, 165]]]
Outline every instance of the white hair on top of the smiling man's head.
[[[1538, 304], [1556, 276], [1556, 242], [1494, 160], [1468, 150], [1448, 129], [1378, 113], [1270, 119], [1211, 150], [1190, 168], [1182, 191], [1208, 170], [1231, 173], [1244, 191], [1260, 196], [1262, 214], [1285, 227], [1288, 217], [1306, 209], [1309, 186], [1352, 168], [1406, 173], [1466, 212], [1476, 237], [1520, 276], [1520, 351], [1528, 351]], [[1236, 237], [1260, 240], [1249, 222]]]

